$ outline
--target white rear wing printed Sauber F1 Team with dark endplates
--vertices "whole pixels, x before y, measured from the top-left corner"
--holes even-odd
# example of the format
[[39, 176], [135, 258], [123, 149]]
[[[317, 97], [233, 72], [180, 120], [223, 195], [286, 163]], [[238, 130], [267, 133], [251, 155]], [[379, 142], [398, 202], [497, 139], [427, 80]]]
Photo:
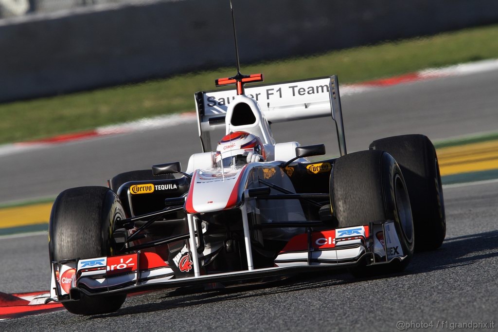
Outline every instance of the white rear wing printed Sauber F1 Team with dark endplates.
[[[204, 152], [213, 151], [210, 132], [225, 128], [224, 116], [236, 95], [236, 89], [195, 93], [197, 124]], [[341, 156], [347, 153], [337, 75], [246, 87], [245, 95], [257, 102], [270, 124], [332, 116]]]

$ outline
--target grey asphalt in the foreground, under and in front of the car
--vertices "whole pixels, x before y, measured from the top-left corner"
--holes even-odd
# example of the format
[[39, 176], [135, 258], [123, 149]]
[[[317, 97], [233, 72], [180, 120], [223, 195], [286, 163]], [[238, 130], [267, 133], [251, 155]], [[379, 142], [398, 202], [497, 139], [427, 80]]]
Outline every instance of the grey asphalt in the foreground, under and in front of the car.
[[[0, 329], [397, 331], [398, 321], [496, 324], [498, 183], [446, 187], [444, 195], [445, 242], [416, 254], [402, 274], [355, 279], [339, 271], [224, 291], [161, 290], [128, 298], [109, 315], [80, 317], [62, 310], [2, 321]], [[4, 239], [0, 250], [2, 266], [12, 267], [2, 269], [2, 291], [48, 288], [46, 236]]]

